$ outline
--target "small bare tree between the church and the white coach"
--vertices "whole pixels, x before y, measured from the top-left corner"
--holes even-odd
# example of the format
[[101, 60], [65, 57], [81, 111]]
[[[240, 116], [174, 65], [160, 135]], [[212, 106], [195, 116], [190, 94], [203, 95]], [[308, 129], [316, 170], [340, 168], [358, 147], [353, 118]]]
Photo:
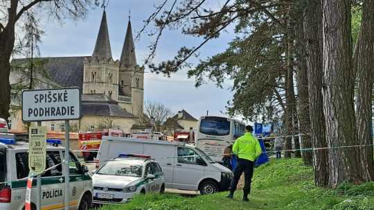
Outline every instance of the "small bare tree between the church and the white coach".
[[154, 119], [156, 130], [160, 130], [162, 123], [172, 116], [168, 107], [156, 101], [145, 101], [144, 112], [148, 119]]

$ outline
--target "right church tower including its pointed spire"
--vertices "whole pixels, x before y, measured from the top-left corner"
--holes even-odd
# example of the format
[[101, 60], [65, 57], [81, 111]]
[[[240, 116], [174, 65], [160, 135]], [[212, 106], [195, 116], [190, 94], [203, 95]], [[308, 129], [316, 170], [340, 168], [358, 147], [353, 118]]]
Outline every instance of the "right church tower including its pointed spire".
[[132, 112], [134, 116], [139, 116], [139, 114], [143, 113], [144, 67], [139, 67], [136, 64], [130, 17], [119, 60], [118, 83], [118, 101], [121, 102], [121, 106], [125, 110]]

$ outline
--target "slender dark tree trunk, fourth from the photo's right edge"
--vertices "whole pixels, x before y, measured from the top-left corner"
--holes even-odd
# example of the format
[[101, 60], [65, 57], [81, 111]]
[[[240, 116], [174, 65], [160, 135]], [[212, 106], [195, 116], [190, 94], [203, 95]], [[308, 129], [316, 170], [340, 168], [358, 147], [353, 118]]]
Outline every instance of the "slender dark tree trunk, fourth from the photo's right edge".
[[[299, 92], [299, 132], [301, 135], [301, 148], [312, 148], [310, 139], [310, 115], [308, 93], [308, 71], [305, 60], [305, 39], [303, 30], [303, 13], [299, 12], [296, 23], [296, 58], [297, 58], [297, 89]], [[312, 166], [312, 151], [302, 152], [304, 164]]]

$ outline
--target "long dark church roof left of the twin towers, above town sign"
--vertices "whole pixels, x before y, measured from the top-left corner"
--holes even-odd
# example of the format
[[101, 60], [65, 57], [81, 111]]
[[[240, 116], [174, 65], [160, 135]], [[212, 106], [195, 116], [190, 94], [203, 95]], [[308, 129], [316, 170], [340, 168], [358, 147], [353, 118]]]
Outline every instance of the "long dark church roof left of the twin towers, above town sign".
[[[89, 58], [89, 56], [34, 58], [34, 60], [42, 61], [44, 71], [57, 85], [82, 89], [84, 58]], [[11, 64], [12, 66], [27, 64], [28, 60], [28, 58], [14, 59]]]

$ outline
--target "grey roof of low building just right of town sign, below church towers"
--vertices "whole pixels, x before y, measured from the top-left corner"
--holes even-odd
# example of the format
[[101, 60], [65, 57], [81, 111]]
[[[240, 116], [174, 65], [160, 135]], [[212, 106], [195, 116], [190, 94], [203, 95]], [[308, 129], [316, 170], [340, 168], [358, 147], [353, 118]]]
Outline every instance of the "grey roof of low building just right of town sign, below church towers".
[[82, 94], [82, 116], [136, 118], [104, 94]]

